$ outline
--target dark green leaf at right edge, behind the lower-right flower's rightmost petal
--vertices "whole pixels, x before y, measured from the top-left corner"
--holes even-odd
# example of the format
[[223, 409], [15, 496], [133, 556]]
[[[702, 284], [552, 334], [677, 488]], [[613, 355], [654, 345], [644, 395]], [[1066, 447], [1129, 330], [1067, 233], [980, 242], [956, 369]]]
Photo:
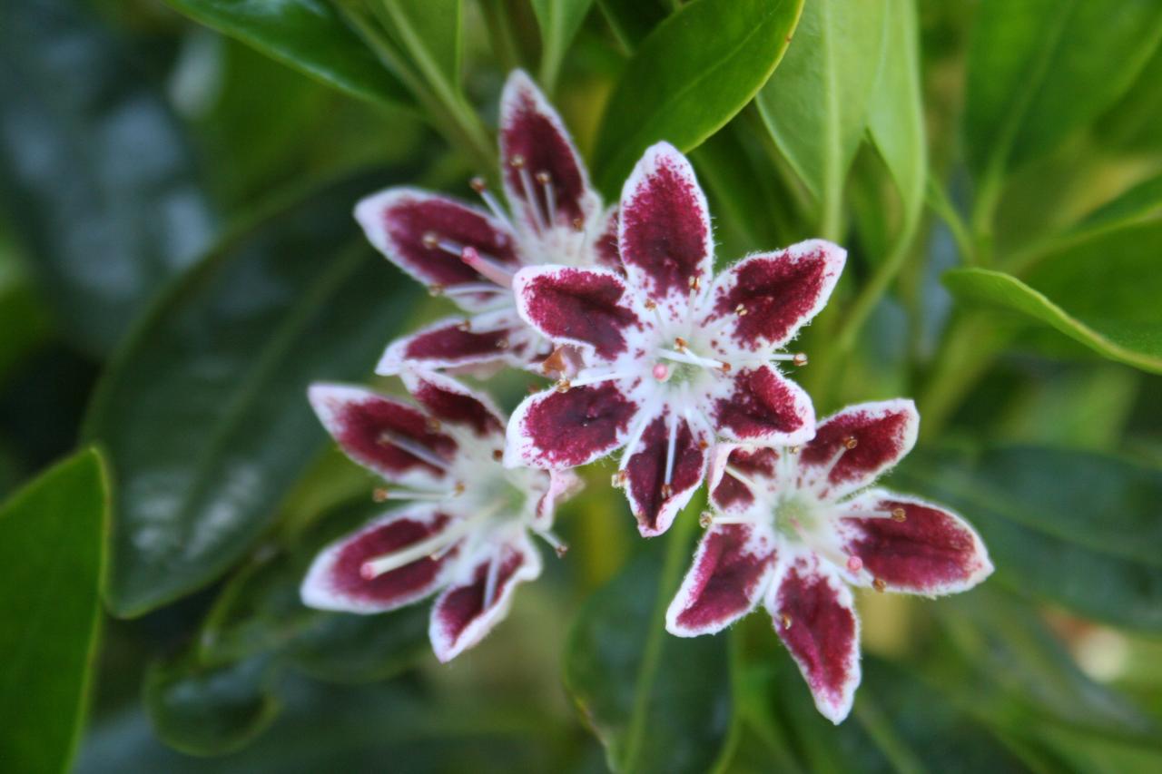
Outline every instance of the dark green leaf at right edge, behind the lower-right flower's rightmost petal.
[[892, 475], [981, 532], [997, 581], [1098, 621], [1162, 631], [1162, 471], [1082, 451], [913, 453]]

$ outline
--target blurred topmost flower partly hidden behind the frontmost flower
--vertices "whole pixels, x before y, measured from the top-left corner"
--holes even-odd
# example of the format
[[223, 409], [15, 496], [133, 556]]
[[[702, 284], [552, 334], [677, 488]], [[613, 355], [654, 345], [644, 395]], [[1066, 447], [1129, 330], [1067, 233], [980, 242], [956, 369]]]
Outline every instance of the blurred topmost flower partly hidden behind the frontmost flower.
[[501, 96], [500, 150], [509, 212], [479, 178], [472, 186], [486, 208], [416, 188], [388, 188], [356, 207], [380, 252], [471, 313], [395, 341], [379, 373], [400, 373], [406, 364], [487, 370], [540, 363], [552, 347], [517, 315], [512, 274], [543, 263], [616, 265], [616, 213], [602, 208], [560, 116], [519, 70]]

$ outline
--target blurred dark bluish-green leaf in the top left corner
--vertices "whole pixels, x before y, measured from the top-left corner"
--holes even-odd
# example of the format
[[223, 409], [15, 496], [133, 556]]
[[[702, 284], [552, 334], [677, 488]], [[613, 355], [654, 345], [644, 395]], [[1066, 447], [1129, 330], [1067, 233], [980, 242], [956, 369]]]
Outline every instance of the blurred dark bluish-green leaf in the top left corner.
[[62, 328], [101, 356], [213, 218], [163, 95], [81, 6], [0, 12], [0, 203]]

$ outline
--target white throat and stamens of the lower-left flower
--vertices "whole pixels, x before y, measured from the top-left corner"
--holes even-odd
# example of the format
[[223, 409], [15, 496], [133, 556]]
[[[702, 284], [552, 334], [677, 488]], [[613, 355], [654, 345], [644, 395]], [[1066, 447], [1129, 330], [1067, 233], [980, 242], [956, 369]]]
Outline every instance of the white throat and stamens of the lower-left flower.
[[[496, 589], [502, 547], [526, 530], [540, 536], [561, 557], [568, 546], [551, 530], [536, 525], [537, 504], [551, 486], [548, 474], [530, 468], [505, 468], [501, 465], [500, 450], [492, 449], [468, 432], [430, 421], [431, 429], [452, 437], [457, 453], [450, 463], [431, 449], [394, 432], [383, 432], [379, 443], [394, 446], [444, 473], [445, 483], [433, 488], [378, 488], [373, 493], [375, 502], [401, 500], [430, 502], [446, 509], [452, 523], [430, 538], [414, 543], [397, 551], [367, 559], [359, 568], [366, 580], [389, 573], [421, 559], [440, 559], [460, 545], [457, 574], [474, 571], [480, 552], [488, 556], [488, 574], [485, 581], [485, 607], [492, 604]], [[537, 479], [545, 479], [544, 487]], [[442, 513], [444, 513], [442, 510]]]

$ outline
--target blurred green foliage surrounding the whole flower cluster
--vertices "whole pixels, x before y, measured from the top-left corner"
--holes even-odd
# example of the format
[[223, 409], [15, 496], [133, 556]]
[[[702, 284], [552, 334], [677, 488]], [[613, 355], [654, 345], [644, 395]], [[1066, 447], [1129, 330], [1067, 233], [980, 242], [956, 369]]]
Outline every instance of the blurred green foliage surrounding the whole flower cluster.
[[[3, 3], [6, 771], [1162, 769], [1160, 42], [1156, 0]], [[351, 208], [495, 174], [516, 66], [607, 196], [691, 152], [720, 264], [851, 251], [795, 375], [914, 396], [890, 486], [997, 572], [863, 595], [841, 726], [761, 616], [665, 633], [696, 519], [638, 539], [601, 465], [450, 666], [423, 607], [299, 603], [375, 513], [304, 387], [444, 311]]]

